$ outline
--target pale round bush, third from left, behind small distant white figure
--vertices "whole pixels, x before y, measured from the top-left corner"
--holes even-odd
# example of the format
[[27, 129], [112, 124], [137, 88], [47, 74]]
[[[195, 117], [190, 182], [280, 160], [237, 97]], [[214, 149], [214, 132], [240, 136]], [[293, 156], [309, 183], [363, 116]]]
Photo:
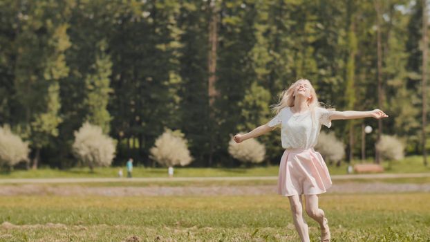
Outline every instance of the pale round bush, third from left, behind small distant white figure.
[[175, 165], [185, 166], [191, 163], [191, 157], [187, 140], [180, 131], [166, 129], [161, 136], [156, 139], [155, 145], [149, 150], [151, 159], [156, 160], [165, 167], [169, 167], [169, 176], [173, 176]]

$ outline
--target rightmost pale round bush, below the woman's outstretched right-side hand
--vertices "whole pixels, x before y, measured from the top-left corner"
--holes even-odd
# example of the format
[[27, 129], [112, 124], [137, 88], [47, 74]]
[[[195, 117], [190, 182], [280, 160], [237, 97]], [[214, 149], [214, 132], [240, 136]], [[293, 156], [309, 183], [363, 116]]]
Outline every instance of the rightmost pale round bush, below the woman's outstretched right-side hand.
[[377, 151], [382, 158], [389, 160], [402, 160], [404, 158], [404, 144], [395, 136], [382, 135], [376, 144]]

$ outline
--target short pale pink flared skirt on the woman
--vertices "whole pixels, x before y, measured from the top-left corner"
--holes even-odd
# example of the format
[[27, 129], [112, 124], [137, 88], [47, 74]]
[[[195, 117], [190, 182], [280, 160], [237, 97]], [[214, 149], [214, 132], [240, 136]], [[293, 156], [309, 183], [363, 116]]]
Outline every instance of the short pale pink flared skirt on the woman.
[[278, 194], [322, 194], [332, 185], [326, 162], [310, 149], [286, 149], [279, 164]]

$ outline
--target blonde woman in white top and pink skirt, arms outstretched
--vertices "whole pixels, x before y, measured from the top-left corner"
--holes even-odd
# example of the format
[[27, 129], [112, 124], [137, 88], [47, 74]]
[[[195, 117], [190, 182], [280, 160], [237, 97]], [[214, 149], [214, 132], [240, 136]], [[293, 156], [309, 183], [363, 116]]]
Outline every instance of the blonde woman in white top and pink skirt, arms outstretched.
[[306, 213], [321, 227], [321, 241], [330, 241], [330, 230], [324, 211], [318, 207], [318, 194], [326, 192], [332, 182], [317, 145], [321, 124], [330, 128], [331, 120], [386, 118], [383, 111], [329, 111], [321, 108], [317, 93], [308, 80], [298, 80], [283, 91], [273, 110], [277, 115], [267, 124], [234, 136], [236, 142], [261, 136], [281, 128], [282, 147], [286, 149], [279, 165], [278, 194], [288, 196], [292, 218], [301, 241], [309, 241], [308, 224], [302, 212], [303, 194]]

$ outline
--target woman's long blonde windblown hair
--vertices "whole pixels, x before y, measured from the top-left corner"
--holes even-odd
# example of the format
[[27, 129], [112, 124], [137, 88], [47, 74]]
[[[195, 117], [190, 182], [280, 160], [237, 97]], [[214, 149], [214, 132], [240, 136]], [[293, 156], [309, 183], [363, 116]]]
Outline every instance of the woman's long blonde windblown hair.
[[279, 95], [279, 103], [272, 105], [272, 111], [275, 114], [278, 114], [279, 111], [281, 111], [281, 109], [289, 106], [294, 106], [294, 101], [295, 101], [295, 95], [294, 95], [294, 89], [295, 86], [297, 85], [297, 82], [300, 81], [305, 81], [308, 82], [310, 85], [310, 98], [308, 99], [308, 106], [310, 111], [312, 112], [312, 120], [315, 117], [315, 108], [320, 106], [319, 102], [318, 102], [318, 97], [317, 97], [317, 93], [315, 92], [314, 87], [312, 86], [312, 84], [310, 83], [309, 80], [307, 79], [299, 79], [297, 81], [295, 81], [293, 84], [290, 85], [290, 87], [286, 90], [284, 90], [281, 95]]

